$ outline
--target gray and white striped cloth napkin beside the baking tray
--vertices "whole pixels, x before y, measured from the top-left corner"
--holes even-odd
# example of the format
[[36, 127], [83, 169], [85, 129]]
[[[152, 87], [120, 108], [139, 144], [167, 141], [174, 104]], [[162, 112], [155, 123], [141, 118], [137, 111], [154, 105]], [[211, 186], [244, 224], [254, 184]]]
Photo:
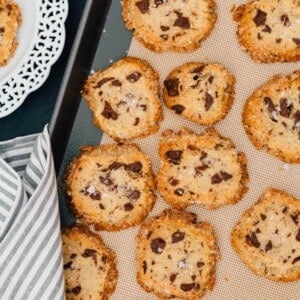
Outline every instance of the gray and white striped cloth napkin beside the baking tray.
[[0, 142], [0, 299], [64, 299], [48, 128]]

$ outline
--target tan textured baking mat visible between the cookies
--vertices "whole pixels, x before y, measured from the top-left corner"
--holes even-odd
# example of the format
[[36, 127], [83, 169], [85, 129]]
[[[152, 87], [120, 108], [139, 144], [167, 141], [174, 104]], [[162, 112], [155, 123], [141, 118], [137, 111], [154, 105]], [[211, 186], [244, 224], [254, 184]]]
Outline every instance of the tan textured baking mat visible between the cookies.
[[[155, 54], [133, 40], [129, 55], [149, 61], [160, 73], [161, 82], [172, 68], [189, 61], [219, 62], [227, 67], [237, 79], [234, 105], [229, 115], [218, 123], [216, 128], [223, 135], [231, 137], [235, 141], [237, 149], [246, 153], [249, 160], [250, 190], [234, 206], [227, 206], [216, 211], [208, 211], [196, 205], [189, 208], [197, 213], [199, 220], [209, 221], [215, 226], [222, 254], [217, 267], [215, 288], [206, 294], [205, 299], [300, 299], [300, 282], [275, 283], [255, 276], [241, 263], [230, 246], [230, 232], [233, 225], [242, 212], [256, 202], [266, 187], [273, 186], [284, 189], [300, 197], [300, 166], [284, 164], [266, 153], [255, 150], [243, 130], [241, 121], [243, 104], [256, 87], [274, 74], [288, 74], [300, 69], [300, 63], [259, 65], [252, 62], [236, 41], [236, 25], [232, 21], [230, 13], [232, 5], [242, 1], [220, 0], [217, 2], [218, 21], [216, 27], [199, 50], [188, 54]], [[203, 130], [203, 127], [184, 120], [169, 112], [165, 107], [164, 116], [165, 120], [161, 125], [161, 130], [167, 128], [178, 130], [181, 126], [187, 126], [197, 132]], [[158, 135], [154, 135], [136, 141], [151, 157], [155, 172], [159, 167], [157, 137]], [[104, 136], [102, 142], [107, 143], [111, 140]], [[165, 207], [167, 205], [158, 197], [151, 215], [160, 213]], [[137, 231], [138, 227], [117, 233], [101, 233], [107, 245], [113, 248], [118, 256], [119, 280], [112, 299], [156, 299], [152, 294], [143, 291], [136, 283], [134, 237]]]

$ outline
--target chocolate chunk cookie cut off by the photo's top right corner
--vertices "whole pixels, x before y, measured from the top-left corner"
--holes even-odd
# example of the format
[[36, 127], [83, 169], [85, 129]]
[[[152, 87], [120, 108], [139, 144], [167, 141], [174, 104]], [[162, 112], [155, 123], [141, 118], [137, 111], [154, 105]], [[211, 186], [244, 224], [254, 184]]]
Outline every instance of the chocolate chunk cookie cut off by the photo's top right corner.
[[252, 0], [232, 9], [242, 48], [256, 62], [300, 60], [300, 6], [297, 0]]

